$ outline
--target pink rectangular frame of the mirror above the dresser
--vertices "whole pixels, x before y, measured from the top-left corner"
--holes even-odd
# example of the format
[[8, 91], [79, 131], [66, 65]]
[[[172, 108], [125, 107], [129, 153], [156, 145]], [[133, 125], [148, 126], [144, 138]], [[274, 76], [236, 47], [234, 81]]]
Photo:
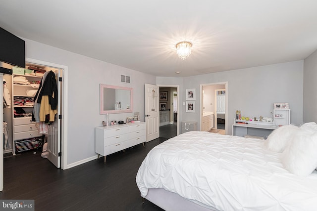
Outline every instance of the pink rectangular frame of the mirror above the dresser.
[[[104, 110], [104, 88], [122, 89], [130, 91], [130, 107], [129, 109], [122, 110]], [[100, 114], [119, 114], [119, 113], [131, 113], [133, 110], [133, 88], [100, 84]], [[115, 102], [114, 102], [115, 103]]]

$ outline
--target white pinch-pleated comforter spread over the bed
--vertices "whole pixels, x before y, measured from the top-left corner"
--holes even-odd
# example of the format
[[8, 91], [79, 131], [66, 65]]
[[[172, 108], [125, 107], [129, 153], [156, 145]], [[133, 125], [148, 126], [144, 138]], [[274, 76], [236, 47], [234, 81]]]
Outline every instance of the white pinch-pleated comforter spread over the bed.
[[221, 211], [317, 211], [317, 173], [282, 168], [264, 140], [191, 131], [153, 148], [136, 182], [141, 196], [164, 188]]

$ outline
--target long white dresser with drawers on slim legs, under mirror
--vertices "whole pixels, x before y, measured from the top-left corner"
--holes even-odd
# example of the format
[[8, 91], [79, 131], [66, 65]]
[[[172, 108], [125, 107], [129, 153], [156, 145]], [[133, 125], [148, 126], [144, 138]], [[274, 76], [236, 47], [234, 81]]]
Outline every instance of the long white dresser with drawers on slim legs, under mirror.
[[107, 127], [95, 128], [95, 152], [99, 155], [106, 155], [124, 150], [146, 141], [146, 124], [128, 123]]

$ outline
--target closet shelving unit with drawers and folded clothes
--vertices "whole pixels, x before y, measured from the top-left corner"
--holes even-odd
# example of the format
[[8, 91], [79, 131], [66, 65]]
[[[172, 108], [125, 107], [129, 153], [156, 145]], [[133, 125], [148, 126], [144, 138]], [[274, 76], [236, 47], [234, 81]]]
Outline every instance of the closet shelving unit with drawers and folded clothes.
[[12, 149], [5, 150], [4, 153], [12, 152], [20, 153], [23, 151], [36, 149], [42, 139], [42, 134], [38, 133], [38, 127], [35, 122], [32, 122], [32, 116], [27, 117], [14, 117], [14, 109], [22, 108], [25, 113], [31, 113], [33, 111], [33, 106], [21, 106], [14, 105], [14, 98], [16, 97], [28, 97], [34, 99], [34, 96], [27, 94], [28, 90], [37, 91], [38, 87], [32, 87], [31, 85], [14, 84], [13, 78], [17, 76], [25, 77], [29, 82], [31, 81], [41, 81], [40, 76], [31, 75], [21, 75], [12, 74], [12, 76], [4, 76], [8, 83], [8, 89], [11, 95], [11, 108], [5, 108], [3, 110], [4, 121], [8, 125], [9, 130], [9, 140], [12, 141]]

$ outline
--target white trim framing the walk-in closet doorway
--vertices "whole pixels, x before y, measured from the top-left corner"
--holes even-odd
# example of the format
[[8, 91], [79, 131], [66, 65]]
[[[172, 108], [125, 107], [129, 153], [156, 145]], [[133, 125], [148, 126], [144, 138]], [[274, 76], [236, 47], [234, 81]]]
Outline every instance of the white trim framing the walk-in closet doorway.
[[[57, 74], [55, 72], [55, 75], [57, 76], [56, 81], [62, 82], [62, 86], [60, 85], [61, 83], [58, 83], [60, 85], [58, 87], [59, 89], [59, 96], [58, 96], [58, 114], [56, 115], [56, 119], [59, 121], [55, 121], [56, 124], [54, 125], [54, 128], [56, 129], [56, 133], [54, 132], [53, 136], [55, 137], [56, 135], [58, 136], [60, 140], [60, 144], [53, 146], [52, 145], [52, 153], [57, 152], [54, 154], [55, 159], [59, 160], [59, 166], [58, 168], [61, 169], [67, 169], [67, 111], [64, 108], [67, 108], [67, 66], [64, 65], [59, 65], [59, 64], [53, 64], [49, 62], [44, 62], [40, 60], [35, 60], [35, 59], [30, 59], [26, 58], [26, 63], [29, 64], [35, 64], [43, 67], [48, 67], [48, 68], [55, 68], [57, 71]], [[61, 103], [62, 102], [62, 103]], [[55, 142], [57, 143], [57, 142]], [[55, 149], [59, 147], [59, 151], [55, 151]], [[3, 151], [2, 151], [3, 152]], [[58, 153], [59, 152], [59, 153]], [[18, 169], [18, 168], [17, 168]], [[1, 174], [5, 174], [3, 172], [3, 154], [0, 162], [0, 170]], [[3, 173], [2, 173], [3, 172]], [[2, 184], [3, 184], [3, 176], [0, 177]], [[0, 188], [0, 191], [2, 191], [3, 186]]]

